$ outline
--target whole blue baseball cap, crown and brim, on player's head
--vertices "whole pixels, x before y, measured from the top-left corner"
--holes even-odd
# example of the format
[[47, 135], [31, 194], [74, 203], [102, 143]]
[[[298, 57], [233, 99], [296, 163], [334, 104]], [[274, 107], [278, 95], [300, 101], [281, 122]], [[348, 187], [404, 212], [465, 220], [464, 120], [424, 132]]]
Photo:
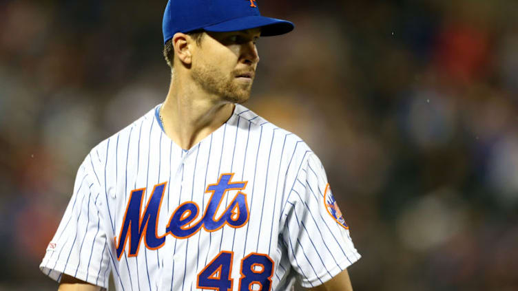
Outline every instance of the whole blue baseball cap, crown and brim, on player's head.
[[257, 0], [169, 0], [162, 22], [164, 43], [176, 32], [261, 28], [261, 36], [274, 36], [291, 32], [294, 27], [289, 21], [261, 16]]

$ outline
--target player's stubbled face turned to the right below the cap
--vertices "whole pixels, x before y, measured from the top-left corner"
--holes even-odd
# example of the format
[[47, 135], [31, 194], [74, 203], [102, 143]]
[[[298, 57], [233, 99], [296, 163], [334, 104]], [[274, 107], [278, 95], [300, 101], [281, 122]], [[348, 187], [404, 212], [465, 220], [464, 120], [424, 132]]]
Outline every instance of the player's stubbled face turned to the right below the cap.
[[256, 41], [260, 29], [238, 32], [206, 32], [193, 55], [193, 79], [207, 93], [232, 103], [250, 97], [259, 56]]

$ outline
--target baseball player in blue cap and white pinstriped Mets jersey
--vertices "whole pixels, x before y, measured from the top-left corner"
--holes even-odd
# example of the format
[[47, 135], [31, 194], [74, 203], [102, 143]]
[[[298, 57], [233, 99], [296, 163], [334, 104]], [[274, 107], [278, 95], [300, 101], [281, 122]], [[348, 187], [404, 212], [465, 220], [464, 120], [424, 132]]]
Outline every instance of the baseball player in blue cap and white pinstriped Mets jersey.
[[[256, 115], [256, 0], [169, 0], [163, 104], [94, 147], [41, 270], [60, 290], [352, 290], [360, 259], [324, 168]], [[145, 98], [145, 96], [143, 96]]]

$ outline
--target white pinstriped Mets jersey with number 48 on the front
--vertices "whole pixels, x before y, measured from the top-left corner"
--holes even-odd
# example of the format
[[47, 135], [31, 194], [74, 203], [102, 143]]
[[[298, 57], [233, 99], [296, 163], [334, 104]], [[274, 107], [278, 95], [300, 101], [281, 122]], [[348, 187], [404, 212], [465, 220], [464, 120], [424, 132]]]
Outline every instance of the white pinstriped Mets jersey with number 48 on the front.
[[116, 290], [289, 290], [357, 261], [320, 160], [242, 105], [189, 150], [160, 105], [94, 147], [41, 270]]

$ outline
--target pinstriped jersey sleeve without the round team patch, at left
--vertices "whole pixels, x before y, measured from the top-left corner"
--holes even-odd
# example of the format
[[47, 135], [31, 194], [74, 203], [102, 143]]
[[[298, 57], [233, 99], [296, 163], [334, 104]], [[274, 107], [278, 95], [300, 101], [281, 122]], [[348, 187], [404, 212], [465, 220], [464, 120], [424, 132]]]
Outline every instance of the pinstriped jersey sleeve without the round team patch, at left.
[[101, 195], [85, 164], [77, 173], [74, 193], [39, 268], [58, 282], [65, 273], [107, 288], [110, 255], [98, 207]]

